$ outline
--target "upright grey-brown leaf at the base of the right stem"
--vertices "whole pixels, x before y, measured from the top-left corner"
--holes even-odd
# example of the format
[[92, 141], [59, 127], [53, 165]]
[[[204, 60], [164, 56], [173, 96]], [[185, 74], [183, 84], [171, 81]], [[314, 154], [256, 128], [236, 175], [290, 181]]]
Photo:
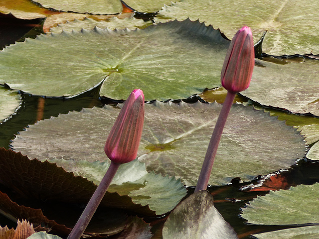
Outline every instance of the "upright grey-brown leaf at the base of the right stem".
[[182, 201], [165, 222], [163, 239], [238, 239], [213, 201], [207, 191], [199, 191]]

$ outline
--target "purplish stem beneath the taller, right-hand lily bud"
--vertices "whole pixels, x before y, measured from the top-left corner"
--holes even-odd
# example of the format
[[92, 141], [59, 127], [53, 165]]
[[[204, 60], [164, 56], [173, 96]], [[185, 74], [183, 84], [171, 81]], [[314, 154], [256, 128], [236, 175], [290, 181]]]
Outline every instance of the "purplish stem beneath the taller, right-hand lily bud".
[[228, 117], [230, 108], [233, 104], [233, 101], [235, 99], [236, 93], [227, 92], [225, 102], [223, 104], [223, 107], [220, 111], [219, 117], [217, 119], [213, 134], [211, 135], [210, 142], [208, 145], [208, 149], [205, 155], [205, 159], [203, 162], [203, 166], [200, 170], [200, 174], [198, 177], [198, 182], [195, 188], [195, 192], [200, 190], [206, 190], [208, 185], [209, 176], [211, 173], [211, 170], [213, 168], [213, 163], [215, 160], [215, 155], [217, 152], [217, 147], [220, 141], [221, 134], [223, 132], [226, 119]]

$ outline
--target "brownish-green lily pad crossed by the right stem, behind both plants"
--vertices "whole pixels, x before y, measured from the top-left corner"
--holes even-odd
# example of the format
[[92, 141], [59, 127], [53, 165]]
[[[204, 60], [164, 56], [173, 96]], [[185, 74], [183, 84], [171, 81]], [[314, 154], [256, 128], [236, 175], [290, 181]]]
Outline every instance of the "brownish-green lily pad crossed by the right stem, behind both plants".
[[[139, 160], [149, 171], [181, 177], [186, 185], [196, 185], [221, 107], [200, 102], [147, 104]], [[105, 161], [103, 147], [119, 111], [105, 106], [45, 119], [20, 132], [12, 146], [39, 159]], [[252, 107], [235, 104], [209, 183], [225, 184], [234, 177], [251, 180], [259, 174], [289, 168], [305, 155], [305, 146], [303, 136], [292, 126]]]

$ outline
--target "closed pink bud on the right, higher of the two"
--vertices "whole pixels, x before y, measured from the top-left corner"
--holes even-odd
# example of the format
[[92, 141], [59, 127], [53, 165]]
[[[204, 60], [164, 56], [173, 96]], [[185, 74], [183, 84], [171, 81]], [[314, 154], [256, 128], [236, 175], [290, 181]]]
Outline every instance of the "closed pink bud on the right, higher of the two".
[[228, 48], [221, 70], [221, 84], [230, 92], [238, 93], [248, 88], [255, 64], [253, 35], [248, 26], [241, 28]]

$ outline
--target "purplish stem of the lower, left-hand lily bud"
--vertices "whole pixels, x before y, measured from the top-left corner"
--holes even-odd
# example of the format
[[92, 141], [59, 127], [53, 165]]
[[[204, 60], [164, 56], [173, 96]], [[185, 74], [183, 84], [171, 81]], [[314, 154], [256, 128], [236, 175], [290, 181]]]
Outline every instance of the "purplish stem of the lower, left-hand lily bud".
[[106, 174], [104, 175], [101, 183], [95, 190], [93, 196], [91, 197], [89, 203], [86, 205], [81, 217], [71, 231], [67, 239], [80, 239], [84, 233], [86, 227], [89, 225], [93, 214], [101, 203], [106, 191], [108, 190], [114, 175], [116, 174], [120, 164], [111, 162]]

